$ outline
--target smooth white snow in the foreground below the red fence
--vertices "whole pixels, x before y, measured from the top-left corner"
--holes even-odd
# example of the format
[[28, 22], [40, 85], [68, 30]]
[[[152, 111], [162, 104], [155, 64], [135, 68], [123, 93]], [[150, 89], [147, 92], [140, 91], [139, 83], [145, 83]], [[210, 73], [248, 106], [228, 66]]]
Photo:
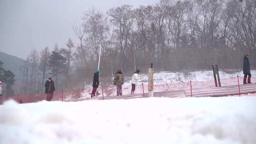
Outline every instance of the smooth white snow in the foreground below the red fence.
[[256, 144], [256, 95], [0, 106], [0, 144]]

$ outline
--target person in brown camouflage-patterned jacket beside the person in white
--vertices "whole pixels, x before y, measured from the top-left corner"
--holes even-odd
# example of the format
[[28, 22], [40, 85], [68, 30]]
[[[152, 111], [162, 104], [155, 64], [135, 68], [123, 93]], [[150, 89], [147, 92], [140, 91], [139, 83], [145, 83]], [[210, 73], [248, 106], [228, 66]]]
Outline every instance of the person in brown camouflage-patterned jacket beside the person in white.
[[122, 85], [124, 84], [124, 75], [121, 69], [117, 70], [117, 73], [114, 77], [114, 85], [117, 86], [117, 96], [122, 95]]

